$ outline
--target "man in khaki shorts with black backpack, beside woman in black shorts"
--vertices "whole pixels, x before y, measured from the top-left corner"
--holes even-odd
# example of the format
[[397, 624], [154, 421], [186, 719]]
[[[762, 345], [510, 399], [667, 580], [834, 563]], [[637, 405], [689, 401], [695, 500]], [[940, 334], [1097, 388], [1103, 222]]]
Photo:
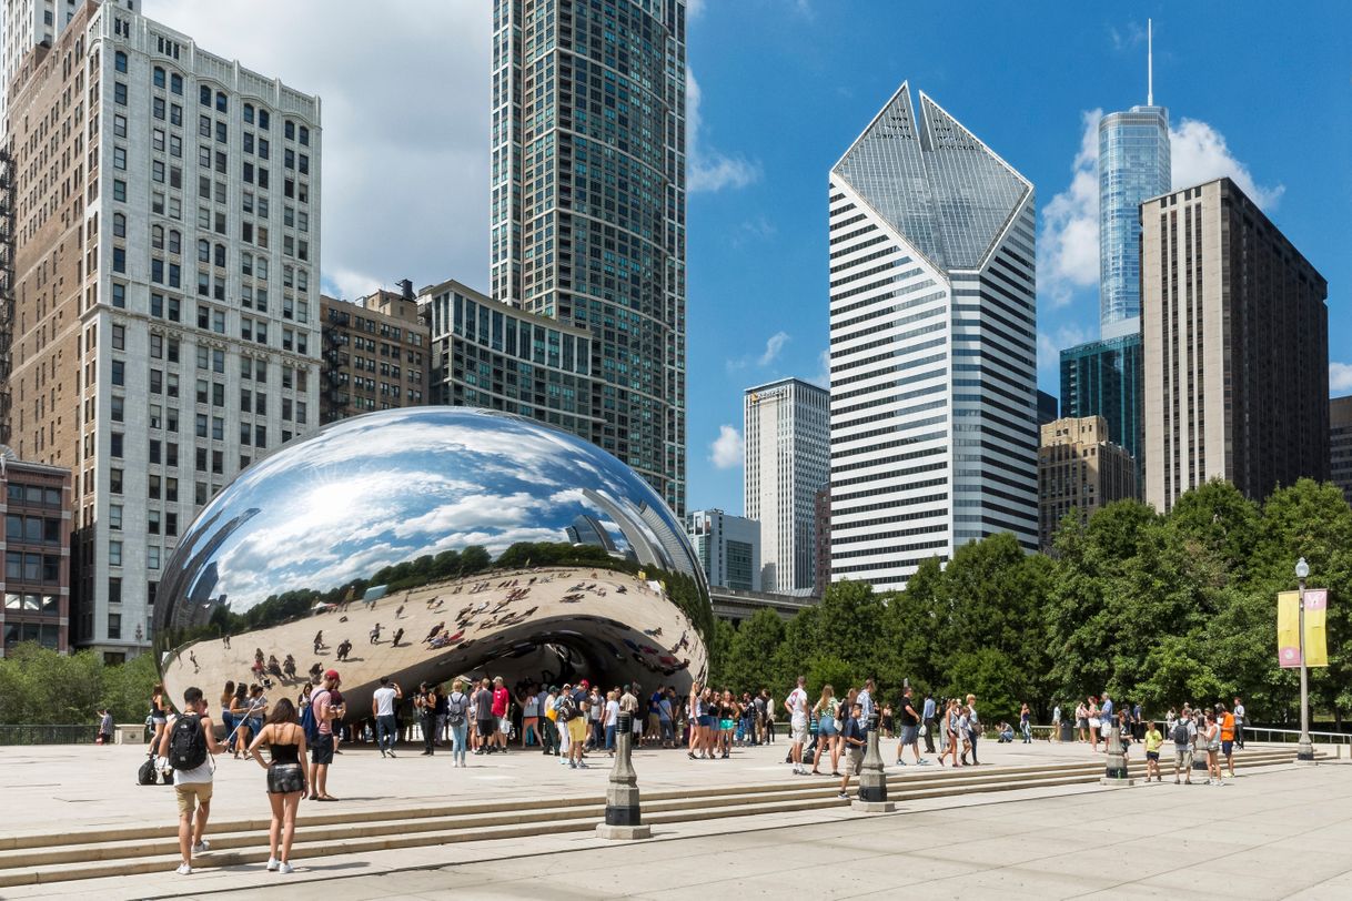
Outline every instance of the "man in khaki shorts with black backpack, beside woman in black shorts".
[[[207, 842], [207, 817], [211, 815], [211, 777], [215, 765], [212, 754], [219, 754], [215, 725], [207, 716], [201, 689], [193, 686], [183, 693], [183, 715], [169, 717], [160, 739], [160, 755], [173, 766], [173, 790], [178, 798], [178, 851], [183, 863], [177, 873], [192, 873], [192, 855], [211, 850]], [[193, 827], [196, 819], [196, 828]]]

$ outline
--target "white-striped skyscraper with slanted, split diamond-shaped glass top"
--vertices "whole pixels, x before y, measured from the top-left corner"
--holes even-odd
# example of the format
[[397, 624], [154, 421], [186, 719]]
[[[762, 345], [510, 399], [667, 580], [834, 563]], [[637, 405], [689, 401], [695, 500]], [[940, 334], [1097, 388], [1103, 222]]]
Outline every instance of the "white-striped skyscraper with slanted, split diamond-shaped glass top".
[[1033, 185], [907, 85], [830, 173], [831, 578], [1037, 548]]

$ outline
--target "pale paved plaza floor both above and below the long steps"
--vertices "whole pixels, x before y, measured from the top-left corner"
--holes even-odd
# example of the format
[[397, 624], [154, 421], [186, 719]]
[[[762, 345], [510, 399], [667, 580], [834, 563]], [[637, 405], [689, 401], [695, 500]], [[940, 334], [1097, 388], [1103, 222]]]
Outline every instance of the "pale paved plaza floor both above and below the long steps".
[[[641, 751], [649, 790], [784, 781], [787, 744], [691, 762]], [[890, 751], [884, 746], [884, 751]], [[1082, 746], [983, 748], [992, 765], [1095, 759]], [[0, 748], [7, 802], [0, 835], [174, 819], [170, 789], [131, 785], [135, 748]], [[891, 759], [891, 758], [888, 758]], [[1102, 759], [1102, 758], [1098, 758]], [[571, 771], [539, 754], [381, 761], [354, 748], [334, 767], [339, 804], [376, 815], [410, 802], [581, 797], [604, 790], [606, 767]], [[907, 767], [910, 771], [911, 767]], [[991, 767], [995, 770], [995, 766]], [[934, 767], [923, 767], [933, 773]], [[910, 774], [910, 773], [909, 773]], [[919, 775], [919, 770], [917, 770]], [[45, 782], [46, 781], [46, 782]], [[219, 762], [212, 819], [265, 816], [257, 765]], [[665, 824], [652, 842], [604, 843], [587, 832], [297, 859], [279, 877], [261, 866], [191, 877], [154, 873], [0, 889], [3, 898], [149, 898], [223, 894], [287, 901], [343, 898], [929, 898], [1352, 897], [1352, 766], [1291, 765], [1245, 773], [1225, 788], [1090, 785], [934, 797], [895, 815], [848, 808]], [[799, 886], [799, 887], [795, 887]]]

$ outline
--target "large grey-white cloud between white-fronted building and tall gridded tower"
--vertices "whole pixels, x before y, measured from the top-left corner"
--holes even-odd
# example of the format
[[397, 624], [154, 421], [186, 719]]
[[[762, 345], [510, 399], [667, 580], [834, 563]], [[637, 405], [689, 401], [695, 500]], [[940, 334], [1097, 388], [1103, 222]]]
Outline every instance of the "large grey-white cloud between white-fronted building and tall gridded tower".
[[[485, 286], [491, 3], [145, 0], [143, 9], [210, 53], [319, 95], [326, 286], [347, 297], [406, 276], [415, 286]], [[375, 35], [397, 35], [396, 46]]]

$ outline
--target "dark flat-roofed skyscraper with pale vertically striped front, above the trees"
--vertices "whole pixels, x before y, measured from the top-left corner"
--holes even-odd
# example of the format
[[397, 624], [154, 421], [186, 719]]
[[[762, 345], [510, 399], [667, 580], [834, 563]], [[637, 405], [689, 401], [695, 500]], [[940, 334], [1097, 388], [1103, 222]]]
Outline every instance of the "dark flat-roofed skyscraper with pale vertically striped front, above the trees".
[[1145, 500], [1329, 477], [1328, 284], [1229, 178], [1141, 207]]

